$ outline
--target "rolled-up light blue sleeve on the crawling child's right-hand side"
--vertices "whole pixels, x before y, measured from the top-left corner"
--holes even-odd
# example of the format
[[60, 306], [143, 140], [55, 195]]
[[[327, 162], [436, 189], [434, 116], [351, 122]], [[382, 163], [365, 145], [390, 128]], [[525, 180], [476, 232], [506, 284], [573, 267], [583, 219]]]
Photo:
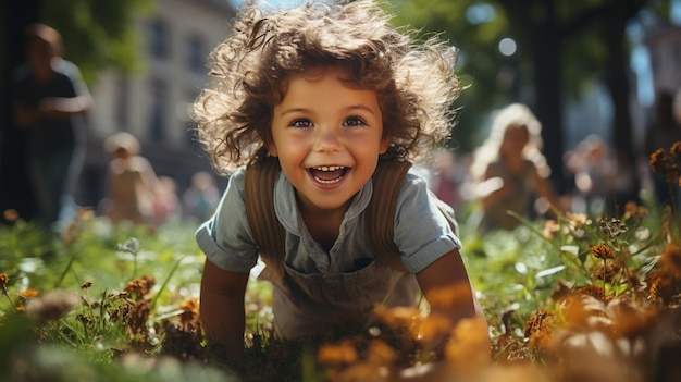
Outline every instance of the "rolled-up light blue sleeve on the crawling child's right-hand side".
[[405, 268], [412, 273], [461, 248], [459, 237], [451, 231], [434, 197], [423, 178], [409, 175], [397, 201], [394, 241]]

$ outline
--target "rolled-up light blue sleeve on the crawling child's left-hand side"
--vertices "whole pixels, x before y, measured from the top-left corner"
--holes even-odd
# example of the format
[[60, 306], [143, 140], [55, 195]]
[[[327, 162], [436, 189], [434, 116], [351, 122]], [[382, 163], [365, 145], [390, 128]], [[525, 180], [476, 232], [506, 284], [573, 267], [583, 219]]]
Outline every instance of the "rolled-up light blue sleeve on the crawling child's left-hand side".
[[206, 257], [221, 269], [247, 273], [257, 263], [258, 249], [244, 205], [243, 169], [230, 177], [215, 213], [199, 226], [195, 237]]

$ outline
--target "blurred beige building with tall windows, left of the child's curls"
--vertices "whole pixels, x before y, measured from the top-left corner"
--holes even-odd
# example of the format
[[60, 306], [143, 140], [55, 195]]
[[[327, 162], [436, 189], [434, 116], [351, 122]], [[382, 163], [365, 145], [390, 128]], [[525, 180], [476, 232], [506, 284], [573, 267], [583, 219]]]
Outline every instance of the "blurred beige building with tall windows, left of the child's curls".
[[179, 195], [195, 172], [212, 171], [194, 139], [189, 108], [207, 81], [208, 57], [230, 33], [234, 15], [224, 0], [156, 0], [153, 11], [138, 17], [144, 67], [129, 74], [104, 72], [91, 89], [95, 108], [79, 205], [97, 207], [107, 196], [109, 157], [102, 143], [120, 131], [139, 139], [140, 153], [158, 175], [176, 182]]

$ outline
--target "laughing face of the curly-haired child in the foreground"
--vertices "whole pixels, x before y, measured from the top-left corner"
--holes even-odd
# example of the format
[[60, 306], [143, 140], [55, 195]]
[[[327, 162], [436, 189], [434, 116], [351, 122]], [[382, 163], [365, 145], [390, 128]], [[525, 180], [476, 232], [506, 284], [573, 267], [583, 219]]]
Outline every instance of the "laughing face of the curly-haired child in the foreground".
[[369, 182], [389, 140], [375, 91], [348, 87], [339, 70], [306, 74], [274, 107], [269, 149], [302, 208], [336, 209]]

